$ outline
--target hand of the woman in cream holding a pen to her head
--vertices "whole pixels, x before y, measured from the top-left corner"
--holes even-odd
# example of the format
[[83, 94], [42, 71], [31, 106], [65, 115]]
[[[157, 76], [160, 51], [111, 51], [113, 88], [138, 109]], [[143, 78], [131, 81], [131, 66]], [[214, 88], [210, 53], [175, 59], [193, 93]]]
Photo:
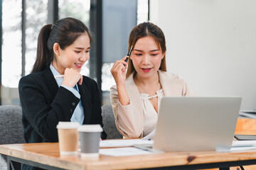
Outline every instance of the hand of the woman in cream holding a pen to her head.
[[114, 65], [113, 65], [112, 69], [110, 70], [117, 86], [124, 86], [124, 84], [125, 84], [126, 69], [127, 69], [127, 64], [128, 64], [127, 62], [124, 61], [126, 58], [127, 58], [127, 56], [122, 58], [122, 60], [117, 60], [116, 62], [114, 62]]

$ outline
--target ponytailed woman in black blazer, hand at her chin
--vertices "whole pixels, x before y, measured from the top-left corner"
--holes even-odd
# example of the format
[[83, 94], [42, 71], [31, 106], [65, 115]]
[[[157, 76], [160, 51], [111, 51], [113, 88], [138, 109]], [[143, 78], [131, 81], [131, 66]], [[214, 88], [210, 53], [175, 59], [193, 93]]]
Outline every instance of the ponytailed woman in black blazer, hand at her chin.
[[[58, 142], [59, 121], [103, 127], [97, 84], [80, 74], [91, 42], [88, 28], [75, 18], [41, 29], [33, 70], [18, 85], [26, 142]], [[104, 131], [101, 137], [107, 137]]]

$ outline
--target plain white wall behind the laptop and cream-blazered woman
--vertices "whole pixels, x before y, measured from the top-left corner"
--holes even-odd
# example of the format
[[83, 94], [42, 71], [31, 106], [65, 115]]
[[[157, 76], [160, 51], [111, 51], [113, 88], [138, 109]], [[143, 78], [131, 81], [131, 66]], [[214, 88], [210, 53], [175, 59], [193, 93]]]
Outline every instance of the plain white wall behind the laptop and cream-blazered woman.
[[199, 96], [242, 96], [256, 108], [256, 1], [151, 0], [166, 35], [167, 69]]

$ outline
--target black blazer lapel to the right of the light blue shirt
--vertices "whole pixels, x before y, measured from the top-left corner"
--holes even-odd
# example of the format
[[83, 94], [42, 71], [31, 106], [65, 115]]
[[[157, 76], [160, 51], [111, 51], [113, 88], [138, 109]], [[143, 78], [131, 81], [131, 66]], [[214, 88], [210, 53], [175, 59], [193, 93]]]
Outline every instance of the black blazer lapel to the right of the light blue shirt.
[[92, 118], [92, 102], [91, 102], [90, 91], [87, 89], [84, 82], [82, 82], [82, 85], [78, 84], [78, 89], [80, 92], [82, 108], [84, 110], [84, 115], [85, 115], [83, 124], [89, 124]]

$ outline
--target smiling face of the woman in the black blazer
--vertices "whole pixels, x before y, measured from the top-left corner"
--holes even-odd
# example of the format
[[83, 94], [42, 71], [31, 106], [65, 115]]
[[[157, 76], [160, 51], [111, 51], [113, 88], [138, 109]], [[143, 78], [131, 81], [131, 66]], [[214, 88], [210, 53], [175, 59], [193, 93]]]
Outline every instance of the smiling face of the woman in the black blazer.
[[53, 66], [60, 74], [64, 74], [66, 68], [73, 68], [78, 72], [90, 57], [90, 38], [87, 33], [80, 35], [72, 45], [61, 49], [58, 43], [53, 45], [55, 60]]

